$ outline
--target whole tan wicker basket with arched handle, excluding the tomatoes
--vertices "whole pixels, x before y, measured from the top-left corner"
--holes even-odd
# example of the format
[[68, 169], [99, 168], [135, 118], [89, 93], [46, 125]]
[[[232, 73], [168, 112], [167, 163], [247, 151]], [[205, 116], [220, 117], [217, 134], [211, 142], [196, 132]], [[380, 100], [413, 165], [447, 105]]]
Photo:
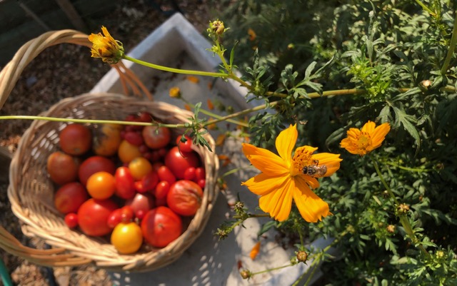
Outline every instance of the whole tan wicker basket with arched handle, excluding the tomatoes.
[[[87, 35], [78, 31], [53, 31], [29, 41], [14, 56], [0, 73], [0, 106], [18, 80], [27, 63], [44, 48], [54, 44], [71, 43], [89, 46]], [[129, 69], [121, 64], [114, 66], [125, 83], [126, 90], [136, 93], [146, 88]], [[122, 120], [129, 113], [149, 111], [166, 123], [184, 123], [193, 116], [189, 111], [168, 103], [159, 103], [146, 98], [133, 98], [113, 93], [84, 94], [66, 98], [43, 116], [84, 119]], [[62, 215], [52, 203], [54, 185], [46, 173], [46, 160], [58, 148], [58, 132], [66, 123], [34, 121], [21, 137], [19, 148], [14, 153], [9, 170], [8, 196], [14, 214], [21, 220], [22, 230], [29, 237], [43, 239], [52, 248], [37, 250], [26, 247], [0, 226], [0, 247], [13, 255], [24, 257], [37, 265], [76, 266], [94, 264], [114, 271], [148, 271], [169, 265], [199, 237], [209, 219], [218, 195], [216, 176], [219, 170], [217, 156], [203, 147], [195, 150], [206, 168], [206, 188], [201, 208], [189, 221], [184, 233], [161, 249], [144, 250], [133, 255], [120, 255], [108, 240], [91, 238], [66, 227]], [[179, 132], [179, 131], [176, 131]], [[214, 140], [206, 135], [214, 150]]]

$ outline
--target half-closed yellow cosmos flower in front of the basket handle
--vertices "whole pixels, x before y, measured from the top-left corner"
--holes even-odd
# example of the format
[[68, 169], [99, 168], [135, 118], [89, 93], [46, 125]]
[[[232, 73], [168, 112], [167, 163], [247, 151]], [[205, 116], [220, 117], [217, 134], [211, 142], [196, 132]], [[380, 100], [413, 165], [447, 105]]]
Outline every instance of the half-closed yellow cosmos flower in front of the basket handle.
[[124, 46], [120, 41], [116, 41], [104, 26], [101, 31], [104, 36], [101, 33], [89, 36], [89, 41], [92, 42], [91, 56], [101, 58], [105, 63], [117, 63], [124, 56]]

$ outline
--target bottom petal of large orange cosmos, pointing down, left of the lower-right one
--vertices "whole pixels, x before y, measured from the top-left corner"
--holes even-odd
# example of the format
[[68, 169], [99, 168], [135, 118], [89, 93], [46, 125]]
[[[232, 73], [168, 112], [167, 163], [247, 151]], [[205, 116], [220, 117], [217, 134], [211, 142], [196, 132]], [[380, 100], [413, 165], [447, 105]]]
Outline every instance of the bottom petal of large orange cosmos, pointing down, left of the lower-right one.
[[258, 206], [265, 213], [269, 213], [271, 218], [278, 221], [283, 221], [288, 218], [291, 213], [293, 199], [293, 180], [288, 178], [276, 191], [263, 195], [258, 200]]

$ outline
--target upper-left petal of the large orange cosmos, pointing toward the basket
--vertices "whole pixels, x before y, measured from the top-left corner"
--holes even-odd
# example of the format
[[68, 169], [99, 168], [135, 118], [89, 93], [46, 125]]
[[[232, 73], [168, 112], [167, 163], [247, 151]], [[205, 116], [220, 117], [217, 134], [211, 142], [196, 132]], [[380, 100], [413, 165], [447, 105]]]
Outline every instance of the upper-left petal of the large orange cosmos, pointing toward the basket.
[[266, 175], [276, 177], [288, 173], [286, 163], [270, 150], [243, 143], [243, 153], [251, 164]]

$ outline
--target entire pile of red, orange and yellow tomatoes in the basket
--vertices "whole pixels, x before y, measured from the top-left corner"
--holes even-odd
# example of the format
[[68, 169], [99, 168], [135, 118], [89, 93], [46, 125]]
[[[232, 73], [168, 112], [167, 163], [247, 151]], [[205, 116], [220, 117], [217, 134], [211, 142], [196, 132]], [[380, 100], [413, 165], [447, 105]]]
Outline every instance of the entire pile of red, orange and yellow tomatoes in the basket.
[[[126, 121], [151, 122], [148, 112]], [[92, 128], [93, 127], [93, 128]], [[122, 254], [165, 247], [201, 205], [205, 170], [191, 138], [169, 128], [69, 124], [49, 155], [54, 205], [69, 228], [110, 238]]]

